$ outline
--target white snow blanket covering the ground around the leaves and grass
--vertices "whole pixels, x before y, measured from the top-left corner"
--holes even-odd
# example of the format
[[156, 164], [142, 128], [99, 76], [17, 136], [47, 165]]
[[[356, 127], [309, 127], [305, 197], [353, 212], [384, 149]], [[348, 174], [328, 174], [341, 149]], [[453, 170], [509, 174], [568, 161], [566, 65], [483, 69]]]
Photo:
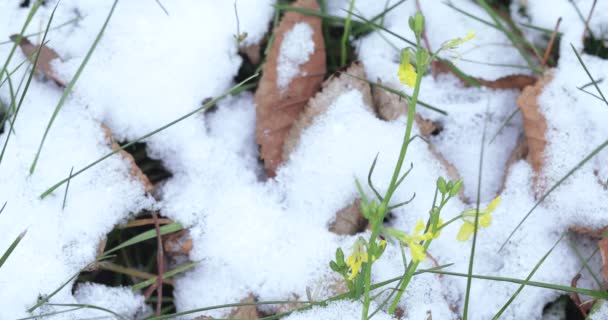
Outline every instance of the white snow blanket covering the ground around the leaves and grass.
[[[54, 2], [47, 2], [29, 31], [37, 30], [48, 18]], [[240, 31], [247, 33], [245, 45], [258, 43], [264, 37], [273, 15], [273, 3], [237, 2]], [[348, 7], [348, 3], [328, 1], [329, 13], [345, 16], [341, 8]], [[490, 20], [471, 1], [452, 3]], [[577, 2], [583, 13], [588, 12], [590, 3], [590, 0]], [[369, 231], [338, 236], [328, 231], [328, 224], [336, 211], [358, 196], [354, 179], [366, 180], [377, 153], [373, 179], [381, 193], [386, 190], [406, 121], [405, 117], [390, 122], [379, 120], [356, 90], [343, 92], [327, 113], [303, 132], [300, 143], [279, 168], [275, 179], [265, 180], [258, 162], [255, 102], [250, 93], [243, 93], [221, 101], [216, 111], [197, 114], [146, 140], [150, 156], [161, 159], [173, 174], [161, 186], [156, 199], [145, 194], [141, 183], [129, 174], [129, 163], [119, 156], [74, 178], [65, 209], [62, 210], [63, 188], [43, 200], [38, 198], [65, 178], [70, 168], [82, 168], [111, 151], [101, 124], [107, 125], [117, 140], [133, 140], [198, 108], [205, 98], [218, 96], [233, 84], [242, 62], [234, 39], [237, 30], [233, 2], [182, 0], [163, 4], [169, 15], [153, 1], [118, 4], [103, 40], [51, 128], [36, 172], [30, 176], [29, 165], [61, 94], [52, 83], [32, 82], [15, 123], [16, 134], [11, 136], [0, 163], [0, 194], [8, 201], [0, 215], [0, 225], [10, 226], [0, 235], [0, 248], [8, 247], [20, 232], [28, 230], [0, 269], [3, 288], [0, 300], [7, 306], [1, 318], [28, 316], [25, 310], [36, 302], [38, 295], [52, 292], [89, 264], [100, 240], [113, 226], [143, 209], [159, 209], [189, 228], [194, 243], [189, 258], [201, 261], [175, 279], [177, 311], [235, 303], [249, 294], [259, 301], [304, 299], [309, 289], [315, 292], [314, 299], [320, 301], [340, 293], [336, 288], [337, 275], [331, 272], [328, 263], [337, 247], [348, 250], [357, 237], [368, 237]], [[484, 79], [522, 72], [520, 68], [468, 62], [525, 63], [499, 31], [453, 11], [440, 1], [421, 4], [433, 49], [445, 40], [476, 31], [476, 38], [459, 49], [462, 59], [456, 64], [464, 72]], [[59, 5], [55, 23], [75, 15], [83, 17], [49, 35], [49, 46], [64, 60], [55, 66], [66, 79], [80, 65], [111, 5], [112, 1], [62, 1]], [[608, 108], [577, 89], [590, 82], [568, 45], [572, 42], [576, 48], [582, 47], [580, 18], [573, 13], [569, 1], [552, 2], [551, 10], [546, 5], [546, 1], [528, 0], [526, 16], [518, 18], [545, 28], [552, 28], [558, 16], [564, 18], [559, 64], [539, 98], [549, 141], [541, 173], [544, 191], [608, 137], [605, 126]], [[513, 2], [514, 15], [519, 14], [515, 13], [520, 12], [519, 6], [521, 2]], [[384, 9], [385, 2], [357, 1], [355, 7], [371, 17]], [[595, 33], [600, 34], [608, 22], [605, 9], [604, 3], [598, 3], [590, 25]], [[385, 17], [384, 25], [411, 40], [406, 17], [414, 11], [415, 2], [407, 1]], [[3, 21], [0, 38], [19, 30], [26, 14], [26, 9], [17, 8], [16, 1], [0, 4]], [[531, 31], [525, 35], [533, 41], [542, 40]], [[311, 37], [312, 30], [304, 23], [296, 24], [287, 33], [277, 70], [280, 88], [288, 87], [298, 75], [299, 65], [308, 60], [314, 49]], [[370, 80], [380, 79], [411, 94], [411, 89], [402, 86], [396, 76], [398, 53], [404, 42], [378, 31], [357, 40], [355, 45]], [[0, 57], [5, 57], [9, 50], [10, 46], [0, 45]], [[17, 52], [9, 69], [23, 59]], [[608, 75], [606, 60], [587, 54], [583, 59], [596, 79]], [[605, 82], [600, 87], [608, 92]], [[595, 93], [592, 87], [587, 90]], [[608, 179], [605, 166], [608, 152], [600, 152], [556, 189], [498, 252], [539, 196], [533, 185], [535, 173], [525, 161], [514, 163], [509, 173], [505, 173], [507, 159], [522, 131], [519, 115], [496, 139], [489, 141], [516, 110], [517, 95], [512, 90], [464, 87], [451, 75], [436, 78], [427, 75], [422, 82], [421, 100], [448, 115], [422, 107], [418, 111], [443, 127], [429, 142], [465, 182], [464, 199], [454, 199], [443, 209], [444, 220], [475, 206], [480, 144], [485, 131], [481, 207], [499, 193], [502, 202], [493, 213], [492, 224], [478, 234], [474, 273], [525, 279], [569, 227], [608, 225], [605, 215], [608, 194], [597, 183]], [[7, 101], [8, 97], [7, 86], [3, 86], [0, 99]], [[417, 134], [418, 128], [414, 131]], [[6, 137], [5, 132], [0, 142]], [[393, 210], [394, 219], [388, 222], [406, 232], [428, 216], [436, 178], [447, 177], [446, 168], [420, 139], [410, 145], [406, 165], [409, 163], [414, 169], [393, 201], [408, 200], [414, 192], [416, 198]], [[373, 196], [369, 188], [365, 191]], [[471, 241], [456, 241], [460, 224], [456, 221], [446, 228], [429, 253], [439, 264], [452, 263], [449, 271], [466, 273]], [[573, 241], [581, 245], [584, 255], [593, 250], [589, 240]], [[406, 257], [409, 260], [409, 254]], [[598, 260], [592, 263], [599, 266]], [[532, 280], [569, 286], [581, 265], [564, 240]], [[420, 268], [434, 266], [432, 259], [427, 259]], [[372, 280], [379, 282], [399, 276], [403, 268], [401, 252], [391, 243], [374, 265]], [[589, 278], [585, 274], [579, 285], [593, 288]], [[508, 282], [474, 279], [470, 319], [492, 318], [518, 287]], [[143, 297], [129, 288], [92, 283], [78, 284], [74, 293], [71, 288], [70, 283], [51, 302], [94, 304], [134, 318], [149, 312], [143, 305]], [[407, 311], [405, 319], [426, 319], [428, 314], [434, 319], [458, 319], [465, 289], [466, 278], [423, 273], [413, 278], [399, 306]], [[381, 294], [378, 301], [386, 294]], [[543, 307], [560, 294], [528, 286], [502, 319], [541, 319]], [[40, 312], [63, 309], [45, 306]], [[603, 318], [605, 310], [598, 312], [596, 317]], [[228, 313], [214, 310], [204, 314], [226, 317]], [[287, 319], [358, 319], [360, 313], [359, 301], [344, 300], [294, 313]], [[84, 309], [71, 316], [101, 315], [99, 311]], [[71, 319], [67, 314], [55, 318]], [[382, 312], [378, 318], [391, 319]]]

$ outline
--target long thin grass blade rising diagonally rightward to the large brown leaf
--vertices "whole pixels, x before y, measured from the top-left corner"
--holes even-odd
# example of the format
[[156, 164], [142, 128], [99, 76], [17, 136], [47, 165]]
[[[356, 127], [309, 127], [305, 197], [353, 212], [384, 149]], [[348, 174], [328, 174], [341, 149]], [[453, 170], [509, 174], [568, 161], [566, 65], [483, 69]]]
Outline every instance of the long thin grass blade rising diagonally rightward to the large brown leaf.
[[149, 138], [149, 137], [151, 137], [151, 136], [153, 136], [153, 135], [155, 135], [155, 134], [157, 134], [157, 133], [159, 133], [159, 132], [161, 132], [161, 131], [163, 131], [163, 130], [171, 127], [171, 126], [173, 126], [174, 124], [176, 124], [176, 123], [178, 123], [178, 122], [180, 122], [180, 121], [182, 121], [182, 120], [184, 120], [186, 118], [189, 118], [189, 117], [191, 117], [191, 116], [193, 116], [193, 115], [201, 112], [201, 111], [205, 111], [205, 110], [211, 108], [218, 101], [220, 101], [223, 98], [225, 98], [225, 97], [233, 94], [234, 92], [240, 90], [240, 87], [242, 87], [247, 82], [249, 82], [249, 80], [251, 80], [251, 79], [253, 79], [253, 78], [257, 77], [257, 76], [258, 76], [258, 74], [256, 73], [256, 74], [252, 75], [251, 77], [249, 77], [249, 78], [243, 80], [242, 82], [238, 83], [237, 85], [235, 85], [234, 87], [232, 87], [230, 90], [226, 91], [224, 94], [222, 94], [222, 95], [218, 96], [217, 98], [214, 98], [214, 99], [208, 101], [207, 103], [203, 104], [201, 107], [196, 108], [193, 111], [191, 111], [191, 112], [189, 112], [189, 113], [187, 113], [187, 114], [185, 114], [185, 115], [183, 115], [183, 116], [181, 116], [181, 117], [179, 117], [179, 118], [177, 118], [177, 119], [175, 119], [175, 120], [167, 123], [166, 125], [158, 128], [156, 130], [153, 130], [153, 131], [151, 131], [149, 133], [146, 133], [145, 135], [143, 135], [143, 136], [141, 136], [141, 137], [139, 137], [139, 138], [137, 138], [137, 139], [135, 139], [135, 140], [133, 140], [133, 141], [131, 141], [129, 143], [123, 144], [122, 146], [120, 146], [120, 147], [116, 148], [115, 150], [109, 152], [105, 156], [103, 156], [103, 157], [101, 157], [101, 158], [99, 158], [99, 159], [91, 162], [90, 164], [88, 164], [84, 168], [82, 168], [82, 169], [74, 172], [74, 174], [72, 174], [71, 177], [65, 178], [65, 179], [57, 182], [55, 185], [53, 185], [52, 187], [50, 187], [49, 189], [47, 189], [45, 192], [43, 192], [40, 195], [40, 198], [43, 199], [44, 197], [46, 197], [49, 194], [53, 193], [53, 191], [55, 191], [57, 188], [59, 188], [60, 186], [62, 186], [69, 179], [74, 179], [74, 177], [76, 177], [76, 176], [80, 175], [81, 173], [85, 172], [86, 170], [94, 167], [95, 165], [99, 164], [100, 162], [104, 161], [105, 159], [107, 159], [107, 158], [109, 158], [109, 157], [117, 154], [118, 152], [124, 150], [125, 148], [128, 148], [128, 147], [130, 147], [130, 146], [132, 146], [132, 145], [134, 145], [134, 144], [136, 144], [138, 142], [141, 142], [141, 141], [143, 141], [143, 140], [145, 140], [145, 139], [147, 139], [147, 138]]

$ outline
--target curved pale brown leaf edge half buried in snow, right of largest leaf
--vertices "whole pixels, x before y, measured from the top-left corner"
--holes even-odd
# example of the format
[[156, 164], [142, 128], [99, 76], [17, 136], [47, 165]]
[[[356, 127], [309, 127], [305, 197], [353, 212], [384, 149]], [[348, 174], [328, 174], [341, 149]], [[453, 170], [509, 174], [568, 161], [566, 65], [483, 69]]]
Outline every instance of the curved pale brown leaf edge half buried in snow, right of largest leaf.
[[369, 84], [357, 78], [365, 79], [365, 70], [363, 64], [354, 62], [343, 72], [338, 72], [329, 77], [325, 82], [321, 91], [314, 97], [308, 100], [304, 111], [300, 117], [294, 122], [283, 146], [283, 159], [288, 159], [289, 155], [295, 149], [302, 131], [310, 127], [314, 120], [321, 114], [327, 112], [329, 107], [343, 93], [349, 90], [357, 90], [363, 96], [363, 102], [369, 111], [372, 109], [372, 93]]

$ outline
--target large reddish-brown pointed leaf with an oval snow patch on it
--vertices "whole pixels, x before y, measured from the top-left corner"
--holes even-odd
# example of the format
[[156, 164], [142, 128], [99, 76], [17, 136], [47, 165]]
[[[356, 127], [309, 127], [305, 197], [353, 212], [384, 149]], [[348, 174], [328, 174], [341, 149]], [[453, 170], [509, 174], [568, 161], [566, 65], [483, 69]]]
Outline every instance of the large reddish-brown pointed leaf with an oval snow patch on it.
[[[316, 0], [298, 0], [294, 7], [319, 11]], [[281, 44], [296, 23], [306, 23], [313, 30], [314, 51], [307, 62], [300, 65], [299, 74], [289, 86], [281, 90], [277, 84], [277, 64]], [[268, 175], [273, 177], [283, 158], [283, 143], [293, 122], [312, 95], [319, 90], [325, 76], [325, 43], [321, 19], [289, 11], [275, 30], [275, 40], [262, 69], [262, 78], [255, 93], [256, 138]]]

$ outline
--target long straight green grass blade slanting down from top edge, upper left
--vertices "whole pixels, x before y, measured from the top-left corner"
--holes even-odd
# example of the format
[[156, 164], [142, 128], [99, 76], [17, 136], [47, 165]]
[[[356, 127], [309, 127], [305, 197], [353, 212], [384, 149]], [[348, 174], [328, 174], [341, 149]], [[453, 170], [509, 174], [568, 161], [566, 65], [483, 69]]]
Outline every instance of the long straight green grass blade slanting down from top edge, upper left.
[[[46, 137], [49, 134], [49, 131], [51, 130], [51, 126], [53, 125], [53, 122], [55, 121], [57, 114], [59, 114], [59, 110], [61, 110], [61, 107], [63, 107], [63, 104], [65, 103], [68, 96], [72, 92], [74, 85], [76, 85], [76, 82], [80, 78], [80, 75], [82, 74], [82, 71], [84, 70], [84, 67], [87, 65], [87, 63], [89, 62], [89, 59], [93, 55], [93, 52], [97, 48], [97, 44], [101, 40], [101, 37], [103, 36], [104, 31], [106, 30], [106, 27], [108, 26], [108, 23], [110, 22], [110, 18], [112, 18], [112, 14], [114, 13], [114, 9], [116, 8], [117, 4], [118, 4], [118, 0], [114, 0], [114, 3], [112, 4], [112, 8], [110, 9], [108, 16], [106, 17], [106, 20], [103, 23], [101, 30], [99, 31], [99, 33], [97, 33], [97, 37], [95, 37], [95, 41], [93, 41], [93, 45], [87, 52], [86, 56], [84, 57], [84, 60], [82, 60], [82, 63], [78, 67], [78, 70], [76, 70], [76, 74], [74, 75], [74, 77], [72, 78], [70, 83], [67, 85], [65, 90], [63, 90], [63, 95], [61, 95], [61, 99], [59, 99], [59, 102], [57, 103], [57, 106], [55, 107], [55, 110], [53, 111], [53, 115], [51, 115], [51, 119], [49, 120], [49, 123], [48, 123], [46, 129], [44, 130], [44, 134], [42, 135], [42, 140], [40, 141], [40, 145], [38, 146], [38, 151], [36, 152], [34, 161], [32, 162], [32, 165], [30, 166], [30, 174], [34, 173], [34, 170], [36, 170], [36, 164], [38, 163], [38, 159], [40, 158], [40, 153], [42, 152], [42, 147], [44, 145]], [[59, 5], [59, 2], [57, 2], [57, 5]], [[57, 9], [57, 6], [55, 6], [55, 9]], [[53, 11], [53, 13], [54, 13], [54, 11]], [[49, 22], [49, 25], [50, 25], [50, 22]], [[48, 32], [48, 26], [47, 26], [47, 32]], [[45, 32], [45, 36], [46, 36], [46, 32]]]

